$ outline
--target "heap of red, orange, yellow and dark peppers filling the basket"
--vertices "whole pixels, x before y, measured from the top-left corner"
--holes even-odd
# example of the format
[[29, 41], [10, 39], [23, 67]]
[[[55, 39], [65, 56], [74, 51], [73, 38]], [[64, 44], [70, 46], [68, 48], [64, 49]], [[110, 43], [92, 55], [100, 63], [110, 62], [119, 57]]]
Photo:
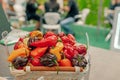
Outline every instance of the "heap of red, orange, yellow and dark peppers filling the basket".
[[32, 64], [33, 66], [79, 66], [85, 68], [87, 60], [86, 45], [76, 45], [72, 34], [61, 32], [55, 34], [40, 31], [32, 31], [28, 36], [20, 38], [15, 44], [14, 50], [8, 57], [8, 61], [16, 69]]

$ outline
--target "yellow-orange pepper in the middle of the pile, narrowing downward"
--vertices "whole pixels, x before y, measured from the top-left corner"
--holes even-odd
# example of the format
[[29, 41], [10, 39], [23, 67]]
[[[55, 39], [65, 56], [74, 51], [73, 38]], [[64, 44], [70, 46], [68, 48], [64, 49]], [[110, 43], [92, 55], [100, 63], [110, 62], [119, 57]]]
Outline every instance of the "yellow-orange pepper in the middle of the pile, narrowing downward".
[[56, 46], [50, 49], [50, 53], [56, 55], [58, 62], [61, 60], [60, 51], [62, 51], [63, 47], [64, 45], [62, 42], [57, 42]]

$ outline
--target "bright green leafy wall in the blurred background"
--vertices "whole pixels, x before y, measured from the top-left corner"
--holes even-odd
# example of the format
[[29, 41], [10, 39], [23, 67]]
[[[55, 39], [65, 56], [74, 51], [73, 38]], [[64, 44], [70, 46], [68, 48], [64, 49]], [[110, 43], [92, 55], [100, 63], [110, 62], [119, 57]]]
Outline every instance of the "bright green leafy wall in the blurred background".
[[[98, 24], [98, 10], [100, 6], [100, 1], [102, 1], [102, 17], [101, 17], [101, 26], [106, 26], [104, 24], [104, 8], [109, 7], [110, 0], [76, 0], [79, 10], [81, 11], [84, 8], [89, 8], [90, 13], [86, 19], [86, 24], [97, 25]], [[109, 25], [107, 25], [108, 27]]]

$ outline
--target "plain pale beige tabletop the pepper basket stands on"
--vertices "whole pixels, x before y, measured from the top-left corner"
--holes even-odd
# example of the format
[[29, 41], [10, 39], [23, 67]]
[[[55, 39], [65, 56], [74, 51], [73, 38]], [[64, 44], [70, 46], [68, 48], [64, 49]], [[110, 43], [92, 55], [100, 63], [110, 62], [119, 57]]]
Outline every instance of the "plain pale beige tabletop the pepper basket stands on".
[[[3, 55], [0, 56], [0, 76], [11, 76], [6, 62], [5, 48], [1, 45], [0, 51], [2, 52], [0, 55]], [[120, 80], [120, 52], [92, 46], [89, 52], [91, 55], [89, 80]]]

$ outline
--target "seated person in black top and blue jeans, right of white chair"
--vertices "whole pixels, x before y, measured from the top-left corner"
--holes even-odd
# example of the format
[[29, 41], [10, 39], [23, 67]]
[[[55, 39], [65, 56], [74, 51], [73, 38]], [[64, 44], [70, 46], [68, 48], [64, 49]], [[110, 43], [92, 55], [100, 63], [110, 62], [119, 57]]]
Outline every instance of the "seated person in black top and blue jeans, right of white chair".
[[70, 24], [78, 20], [77, 18], [75, 18], [75, 16], [79, 14], [75, 0], [68, 0], [68, 5], [64, 6], [63, 10], [67, 12], [67, 15], [65, 19], [60, 22], [60, 24], [65, 30], [66, 34], [71, 33], [75, 35], [75, 32], [73, 32], [70, 28]]

